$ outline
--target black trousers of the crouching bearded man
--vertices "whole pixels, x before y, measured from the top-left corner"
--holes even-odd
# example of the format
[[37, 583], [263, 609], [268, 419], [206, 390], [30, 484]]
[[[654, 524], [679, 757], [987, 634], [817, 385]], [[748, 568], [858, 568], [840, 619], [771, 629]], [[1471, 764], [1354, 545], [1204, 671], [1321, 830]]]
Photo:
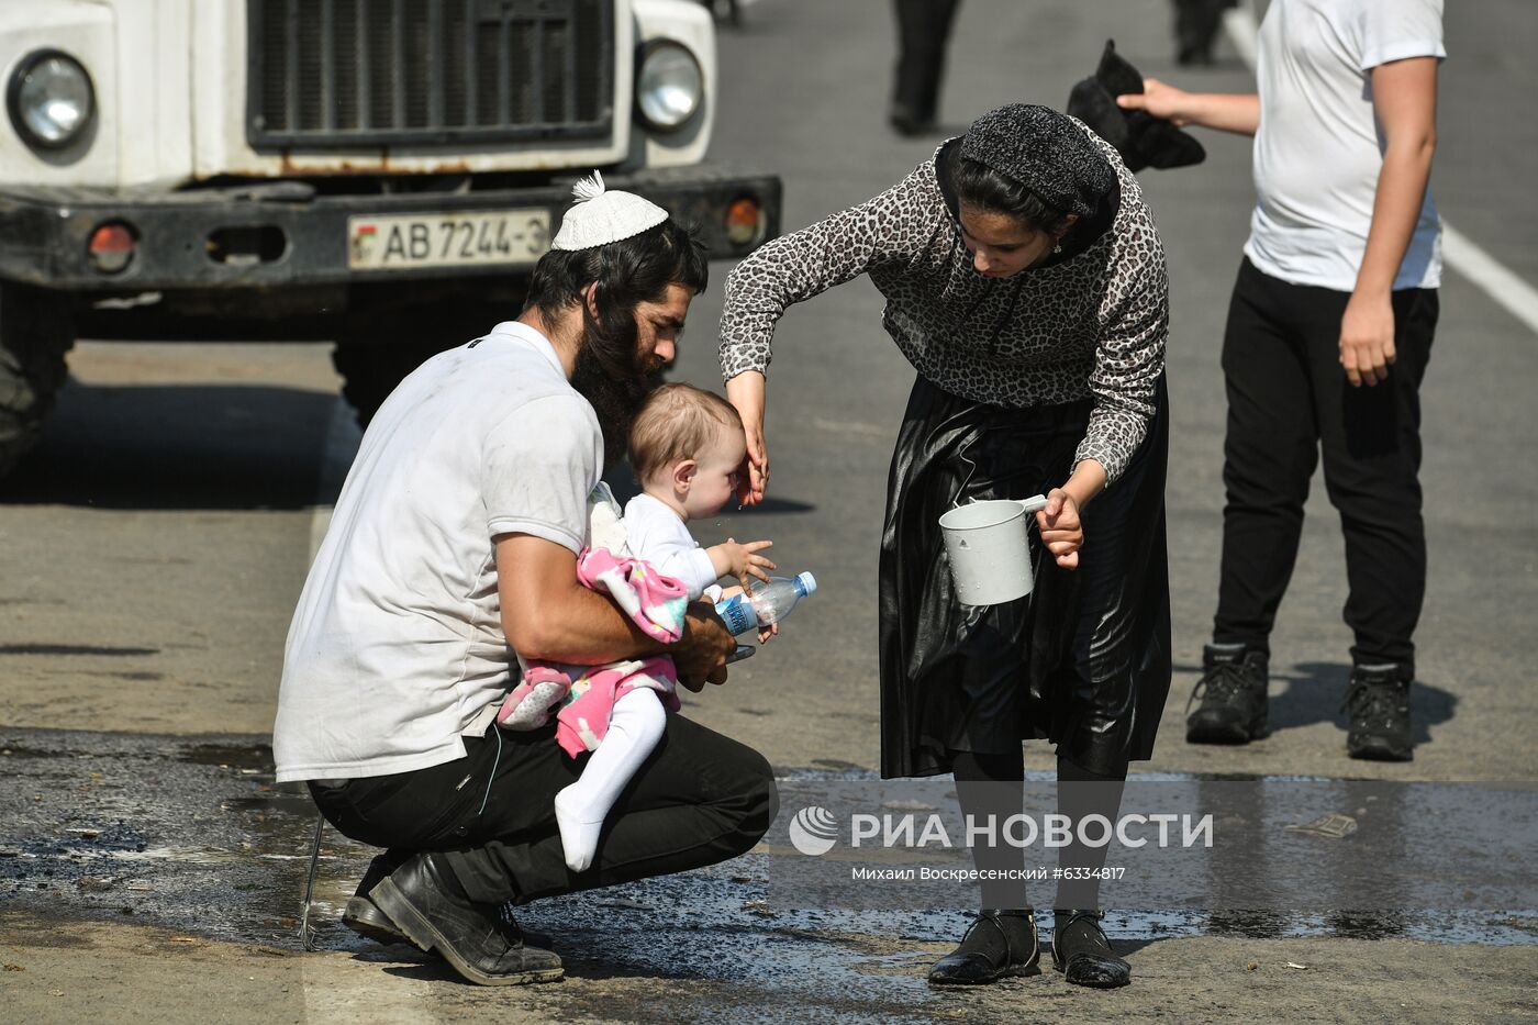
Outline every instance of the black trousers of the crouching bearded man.
[[466, 756], [414, 773], [311, 783], [321, 814], [345, 836], [403, 851], [446, 851], [477, 902], [528, 903], [575, 890], [714, 865], [752, 848], [780, 808], [761, 754], [683, 716], [615, 803], [592, 868], [566, 868], [555, 793], [586, 765], [531, 733], [492, 726], [464, 737]]

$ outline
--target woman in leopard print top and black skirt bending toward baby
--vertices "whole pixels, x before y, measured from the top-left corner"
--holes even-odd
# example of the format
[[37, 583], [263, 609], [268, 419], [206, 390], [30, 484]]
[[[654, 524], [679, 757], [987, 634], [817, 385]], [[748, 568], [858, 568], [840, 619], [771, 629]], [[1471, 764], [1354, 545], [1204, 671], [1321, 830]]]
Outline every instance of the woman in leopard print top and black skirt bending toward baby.
[[[751, 499], [769, 480], [764, 371], [797, 302], [869, 274], [883, 326], [917, 369], [881, 534], [881, 776], [954, 773], [974, 822], [1020, 814], [1021, 740], [1057, 745], [1060, 808], [1117, 817], [1169, 689], [1164, 551], [1169, 329], [1164, 251], [1112, 146], [1044, 106], [1010, 105], [881, 195], [771, 242], [732, 271], [721, 314], [726, 394], [747, 429]], [[941, 512], [1047, 494], [1029, 599], [961, 605]], [[1063, 848], [1089, 876], [1104, 848]], [[983, 868], [1024, 853], [980, 845]], [[934, 983], [1032, 974], [1035, 914], [1018, 882], [983, 911]], [[1098, 885], [1063, 882], [1054, 965], [1126, 985]]]

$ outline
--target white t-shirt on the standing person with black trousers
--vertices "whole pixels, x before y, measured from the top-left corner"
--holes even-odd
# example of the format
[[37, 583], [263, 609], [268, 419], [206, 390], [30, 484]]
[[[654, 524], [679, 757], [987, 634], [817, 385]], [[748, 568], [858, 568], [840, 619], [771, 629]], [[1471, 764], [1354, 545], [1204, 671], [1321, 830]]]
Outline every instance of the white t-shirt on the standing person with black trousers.
[[[1255, 214], [1244, 255], [1293, 285], [1357, 288], [1384, 139], [1372, 106], [1378, 65], [1446, 57], [1443, 0], [1272, 0], [1255, 77]], [[1441, 283], [1430, 188], [1393, 288]]]

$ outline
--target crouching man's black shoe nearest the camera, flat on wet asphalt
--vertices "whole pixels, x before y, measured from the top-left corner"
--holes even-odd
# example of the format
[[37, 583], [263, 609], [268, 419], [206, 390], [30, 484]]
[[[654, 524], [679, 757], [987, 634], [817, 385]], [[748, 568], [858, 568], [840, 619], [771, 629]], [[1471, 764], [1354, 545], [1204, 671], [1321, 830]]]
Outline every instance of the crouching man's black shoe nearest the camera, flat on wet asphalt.
[[534, 947], [500, 906], [474, 903], [461, 893], [441, 854], [415, 854], [371, 894], [406, 937], [438, 951], [461, 976], [483, 987], [554, 982], [561, 959]]

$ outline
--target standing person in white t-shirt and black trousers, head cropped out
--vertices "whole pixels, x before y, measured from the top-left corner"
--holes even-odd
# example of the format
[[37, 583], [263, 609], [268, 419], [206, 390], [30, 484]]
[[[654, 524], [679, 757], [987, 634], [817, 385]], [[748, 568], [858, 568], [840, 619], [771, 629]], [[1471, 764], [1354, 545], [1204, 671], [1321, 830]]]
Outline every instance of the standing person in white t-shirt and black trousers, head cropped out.
[[1255, 137], [1255, 214], [1223, 339], [1223, 569], [1193, 743], [1266, 734], [1269, 637], [1309, 477], [1346, 536], [1353, 759], [1413, 757], [1412, 634], [1426, 594], [1420, 385], [1441, 283], [1429, 188], [1441, 0], [1273, 0], [1258, 94], [1155, 78], [1129, 109]]

